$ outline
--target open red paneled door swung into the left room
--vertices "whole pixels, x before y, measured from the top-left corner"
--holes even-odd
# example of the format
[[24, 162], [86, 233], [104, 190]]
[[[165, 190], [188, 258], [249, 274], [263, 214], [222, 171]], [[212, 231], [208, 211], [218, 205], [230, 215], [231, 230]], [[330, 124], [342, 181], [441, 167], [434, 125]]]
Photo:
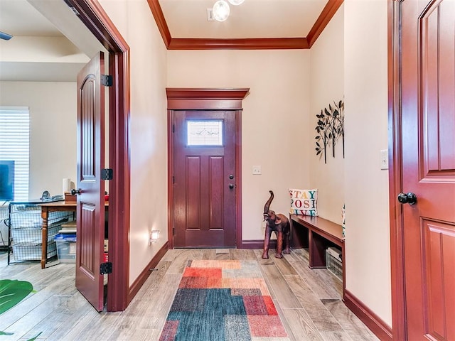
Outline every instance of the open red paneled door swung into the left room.
[[77, 239], [76, 287], [98, 311], [103, 308], [100, 263], [105, 233], [105, 98], [100, 83], [104, 54], [77, 75]]

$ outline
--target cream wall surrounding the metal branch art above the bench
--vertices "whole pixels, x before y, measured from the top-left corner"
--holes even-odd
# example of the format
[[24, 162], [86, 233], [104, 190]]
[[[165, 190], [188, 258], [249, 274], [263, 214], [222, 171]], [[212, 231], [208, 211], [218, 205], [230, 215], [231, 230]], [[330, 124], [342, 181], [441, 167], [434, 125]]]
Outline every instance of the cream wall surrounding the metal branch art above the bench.
[[341, 208], [344, 204], [344, 158], [341, 138], [332, 148], [316, 156], [317, 135], [314, 130], [324, 108], [343, 100], [344, 95], [344, 9], [343, 5], [328, 23], [311, 47], [311, 112], [308, 133], [310, 162], [310, 187], [318, 189], [318, 214], [341, 224]]

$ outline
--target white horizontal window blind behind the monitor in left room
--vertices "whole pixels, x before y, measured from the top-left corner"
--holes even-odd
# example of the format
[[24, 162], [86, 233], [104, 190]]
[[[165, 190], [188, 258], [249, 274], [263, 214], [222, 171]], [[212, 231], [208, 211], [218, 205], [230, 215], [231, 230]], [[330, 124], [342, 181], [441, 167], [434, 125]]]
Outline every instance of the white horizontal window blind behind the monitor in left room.
[[16, 201], [28, 200], [29, 153], [28, 107], [0, 107], [0, 160], [14, 160], [14, 200]]

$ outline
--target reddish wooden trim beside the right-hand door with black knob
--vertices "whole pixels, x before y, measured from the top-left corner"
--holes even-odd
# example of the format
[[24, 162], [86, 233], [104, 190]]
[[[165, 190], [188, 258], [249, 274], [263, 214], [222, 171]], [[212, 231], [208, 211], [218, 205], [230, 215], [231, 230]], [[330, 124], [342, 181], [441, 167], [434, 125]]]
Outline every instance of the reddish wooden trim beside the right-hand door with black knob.
[[387, 4], [390, 266], [393, 340], [407, 340], [404, 223], [402, 205], [397, 205], [397, 195], [402, 192], [401, 2], [402, 0], [388, 0]]

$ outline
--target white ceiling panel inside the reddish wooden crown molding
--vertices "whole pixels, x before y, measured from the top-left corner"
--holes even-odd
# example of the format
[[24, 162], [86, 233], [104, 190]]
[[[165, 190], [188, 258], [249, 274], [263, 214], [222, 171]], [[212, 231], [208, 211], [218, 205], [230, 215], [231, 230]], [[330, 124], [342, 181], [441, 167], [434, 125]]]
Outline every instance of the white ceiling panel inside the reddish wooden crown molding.
[[215, 0], [159, 0], [173, 38], [305, 37], [327, 0], [246, 0], [226, 21], [208, 21]]

